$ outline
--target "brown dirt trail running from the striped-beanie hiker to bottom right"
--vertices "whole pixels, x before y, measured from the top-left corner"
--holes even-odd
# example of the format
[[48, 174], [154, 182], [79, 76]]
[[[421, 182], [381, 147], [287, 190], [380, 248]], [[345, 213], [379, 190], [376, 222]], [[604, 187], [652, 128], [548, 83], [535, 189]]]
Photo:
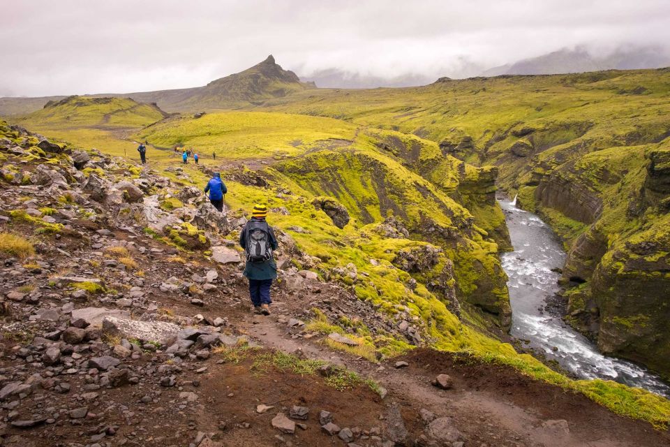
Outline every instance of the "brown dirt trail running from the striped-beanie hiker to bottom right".
[[[285, 307], [283, 303], [278, 306]], [[322, 347], [318, 341], [296, 338], [277, 318], [254, 316], [242, 328], [264, 346], [300, 351], [308, 358], [343, 363], [371, 377], [389, 391], [387, 402], [398, 402], [416, 418], [420, 409], [450, 416], [474, 444], [509, 446], [624, 447], [670, 446], [667, 433], [648, 424], [616, 416], [583, 395], [519, 376], [504, 367], [465, 365], [448, 353], [417, 349], [377, 367]], [[408, 367], [396, 369], [396, 361]], [[453, 390], [431, 385], [436, 374], [454, 379]], [[403, 414], [405, 413], [403, 411]], [[411, 420], [411, 419], [410, 419]]]

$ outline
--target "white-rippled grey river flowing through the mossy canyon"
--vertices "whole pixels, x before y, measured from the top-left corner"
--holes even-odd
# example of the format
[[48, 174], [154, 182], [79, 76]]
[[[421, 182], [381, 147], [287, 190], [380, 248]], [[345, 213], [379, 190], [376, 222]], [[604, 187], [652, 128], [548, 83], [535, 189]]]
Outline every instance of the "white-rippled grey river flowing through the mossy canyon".
[[670, 397], [670, 386], [657, 376], [626, 360], [603, 356], [561, 318], [542, 312], [546, 299], [560, 290], [556, 283], [560, 274], [551, 269], [562, 268], [565, 263], [563, 244], [539, 217], [517, 208], [516, 199], [499, 203], [514, 247], [514, 251], [501, 256], [502, 268], [509, 277], [510, 334], [529, 340], [535, 351], [557, 360], [581, 379], [609, 379]]

